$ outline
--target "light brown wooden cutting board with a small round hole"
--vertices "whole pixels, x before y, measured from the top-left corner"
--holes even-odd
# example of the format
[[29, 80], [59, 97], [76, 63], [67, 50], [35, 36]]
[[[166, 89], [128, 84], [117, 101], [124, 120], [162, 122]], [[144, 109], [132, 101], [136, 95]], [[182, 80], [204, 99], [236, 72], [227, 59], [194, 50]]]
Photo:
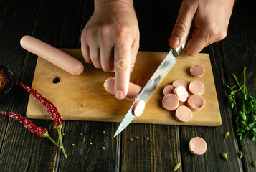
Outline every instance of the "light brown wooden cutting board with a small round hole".
[[[84, 62], [80, 49], [62, 49], [62, 51]], [[131, 74], [131, 82], [136, 82], [138, 78], [149, 79], [166, 54], [167, 52], [138, 52], [136, 67]], [[190, 75], [189, 68], [196, 64], [205, 67], [206, 72], [202, 77]], [[84, 65], [85, 71], [82, 75], [73, 76], [39, 57], [32, 87], [57, 106], [63, 120], [122, 121], [132, 102], [117, 100], [114, 95], [105, 91], [104, 81], [108, 77], [114, 77], [114, 74], [97, 70], [93, 65]], [[56, 78], [60, 78], [60, 82]], [[178, 122], [174, 117], [174, 112], [164, 110], [161, 105], [163, 87], [170, 85], [174, 80], [185, 80], [188, 83], [200, 80], [204, 83], [205, 92], [202, 97], [206, 105], [202, 110], [193, 112], [193, 118], [188, 123]], [[44, 107], [32, 96], [29, 97], [27, 117], [50, 119]], [[133, 123], [221, 125], [222, 120], [209, 55], [199, 54], [196, 57], [179, 55], [176, 57], [176, 65], [146, 103], [143, 115], [135, 118]]]

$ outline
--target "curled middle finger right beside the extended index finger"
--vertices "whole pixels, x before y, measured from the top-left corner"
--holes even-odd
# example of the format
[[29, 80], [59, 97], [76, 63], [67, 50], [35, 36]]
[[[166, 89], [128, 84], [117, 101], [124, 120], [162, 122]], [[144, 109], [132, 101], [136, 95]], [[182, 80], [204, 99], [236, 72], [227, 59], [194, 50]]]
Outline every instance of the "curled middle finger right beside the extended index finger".
[[114, 47], [102, 46], [100, 47], [100, 64], [105, 72], [114, 72]]

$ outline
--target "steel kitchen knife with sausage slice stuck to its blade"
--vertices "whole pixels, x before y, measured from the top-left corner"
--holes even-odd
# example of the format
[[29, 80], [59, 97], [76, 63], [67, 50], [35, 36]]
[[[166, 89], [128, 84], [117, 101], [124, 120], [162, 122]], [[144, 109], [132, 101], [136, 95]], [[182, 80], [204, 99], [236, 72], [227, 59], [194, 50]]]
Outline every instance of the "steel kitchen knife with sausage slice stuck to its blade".
[[172, 67], [174, 67], [176, 63], [175, 57], [179, 55], [179, 53], [181, 52], [181, 49], [184, 49], [185, 46], [186, 46], [186, 41], [184, 41], [184, 43], [181, 44], [181, 47], [178, 47], [176, 49], [171, 49], [171, 51], [166, 55], [166, 57], [163, 59], [163, 62], [161, 62], [161, 64], [156, 69], [156, 72], [153, 73], [150, 80], [148, 80], [148, 83], [145, 85], [143, 90], [141, 90], [140, 94], [138, 95], [136, 100], [133, 102], [133, 105], [131, 105], [131, 108], [128, 110], [128, 113], [126, 113], [125, 117], [120, 123], [118, 130], [115, 131], [114, 137], [119, 133], [121, 133], [136, 117], [135, 115], [133, 115], [133, 107], [136, 101], [143, 100], [145, 103], [148, 101], [151, 95], [153, 95], [153, 92], [156, 91], [156, 88], [161, 84], [163, 79], [170, 72]]

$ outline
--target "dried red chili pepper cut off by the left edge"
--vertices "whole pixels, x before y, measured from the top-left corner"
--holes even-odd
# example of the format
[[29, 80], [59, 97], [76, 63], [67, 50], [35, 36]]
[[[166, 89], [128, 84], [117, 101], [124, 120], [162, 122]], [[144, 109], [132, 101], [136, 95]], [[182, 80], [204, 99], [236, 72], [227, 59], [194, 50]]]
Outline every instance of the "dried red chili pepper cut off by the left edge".
[[31, 120], [22, 116], [20, 113], [0, 111], [0, 115], [9, 116], [10, 118], [14, 118], [14, 120], [18, 120], [19, 123], [22, 123], [24, 127], [27, 128], [29, 131], [31, 131], [34, 134], [37, 134], [39, 137], [49, 138], [49, 140], [51, 140], [52, 143], [54, 143], [54, 145], [60, 148], [60, 145], [57, 145], [57, 143], [49, 136], [49, 133], [46, 128], [37, 127], [37, 125], [32, 123]]

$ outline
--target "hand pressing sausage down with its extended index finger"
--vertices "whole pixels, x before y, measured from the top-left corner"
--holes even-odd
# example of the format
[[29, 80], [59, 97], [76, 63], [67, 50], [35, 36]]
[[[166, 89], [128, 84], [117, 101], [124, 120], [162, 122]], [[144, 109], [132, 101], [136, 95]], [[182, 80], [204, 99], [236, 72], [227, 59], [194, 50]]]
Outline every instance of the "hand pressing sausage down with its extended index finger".
[[115, 72], [115, 97], [128, 92], [139, 47], [138, 20], [132, 0], [96, 1], [81, 35], [82, 56], [105, 72]]

